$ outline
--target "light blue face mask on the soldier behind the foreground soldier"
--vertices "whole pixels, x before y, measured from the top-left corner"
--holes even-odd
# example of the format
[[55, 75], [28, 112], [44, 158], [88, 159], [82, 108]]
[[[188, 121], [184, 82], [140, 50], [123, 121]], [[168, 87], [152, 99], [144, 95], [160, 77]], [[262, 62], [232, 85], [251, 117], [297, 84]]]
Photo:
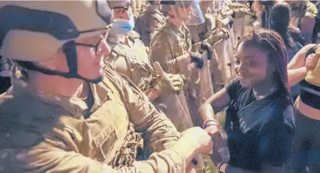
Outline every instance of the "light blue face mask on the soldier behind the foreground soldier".
[[130, 18], [129, 20], [123, 18], [115, 18], [114, 19], [114, 27], [110, 29], [110, 34], [114, 34], [116, 36], [122, 36], [124, 34], [129, 33], [134, 29], [134, 18]]

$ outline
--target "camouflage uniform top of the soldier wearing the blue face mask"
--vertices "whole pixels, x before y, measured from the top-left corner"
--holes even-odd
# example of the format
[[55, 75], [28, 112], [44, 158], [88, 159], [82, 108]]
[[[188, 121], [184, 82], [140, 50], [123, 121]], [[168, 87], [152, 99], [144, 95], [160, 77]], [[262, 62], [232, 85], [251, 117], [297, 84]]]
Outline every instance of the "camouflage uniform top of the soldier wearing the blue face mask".
[[112, 64], [116, 72], [129, 77], [140, 90], [148, 90], [151, 87], [152, 78], [157, 75], [149, 62], [148, 49], [139, 39], [140, 35], [136, 31], [131, 31], [124, 37], [127, 44], [111, 36], [108, 37], [107, 42], [112, 53], [108, 55], [106, 61]]

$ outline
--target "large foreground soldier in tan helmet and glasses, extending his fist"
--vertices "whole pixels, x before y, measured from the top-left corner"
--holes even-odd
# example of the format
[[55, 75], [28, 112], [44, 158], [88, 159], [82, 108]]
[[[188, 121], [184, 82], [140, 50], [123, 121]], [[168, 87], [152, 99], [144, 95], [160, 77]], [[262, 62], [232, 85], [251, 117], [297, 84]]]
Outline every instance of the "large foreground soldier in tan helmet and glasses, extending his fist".
[[[210, 152], [206, 131], [178, 133], [132, 82], [103, 70], [108, 1], [2, 1], [0, 17], [0, 54], [21, 69], [0, 103], [1, 172], [185, 172]], [[147, 161], [134, 161], [140, 132]]]

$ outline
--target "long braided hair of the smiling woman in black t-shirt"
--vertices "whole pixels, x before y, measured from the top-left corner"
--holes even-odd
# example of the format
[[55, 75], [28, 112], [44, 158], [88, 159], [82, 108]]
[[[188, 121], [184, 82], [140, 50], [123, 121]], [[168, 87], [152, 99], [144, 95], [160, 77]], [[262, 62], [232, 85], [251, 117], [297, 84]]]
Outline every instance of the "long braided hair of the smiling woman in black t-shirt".
[[246, 45], [256, 47], [268, 55], [269, 63], [271, 62], [275, 65], [275, 80], [280, 82], [282, 89], [286, 92], [285, 96], [291, 98], [286, 68], [288, 54], [281, 36], [269, 29], [253, 29], [241, 38], [236, 45], [236, 49], [238, 49], [238, 45], [241, 42], [246, 42]]

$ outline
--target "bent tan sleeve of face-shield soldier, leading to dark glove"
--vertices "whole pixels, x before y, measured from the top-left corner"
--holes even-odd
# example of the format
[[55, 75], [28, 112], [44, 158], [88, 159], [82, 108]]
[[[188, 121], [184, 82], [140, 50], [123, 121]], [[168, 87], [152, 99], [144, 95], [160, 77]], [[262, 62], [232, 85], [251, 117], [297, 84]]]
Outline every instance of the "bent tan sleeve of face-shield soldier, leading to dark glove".
[[171, 45], [165, 40], [166, 37], [160, 36], [160, 34], [156, 34], [156, 36], [151, 38], [149, 59], [151, 59], [152, 62], [159, 62], [165, 72], [184, 73], [180, 67], [187, 65], [186, 57], [175, 58], [171, 52]]

